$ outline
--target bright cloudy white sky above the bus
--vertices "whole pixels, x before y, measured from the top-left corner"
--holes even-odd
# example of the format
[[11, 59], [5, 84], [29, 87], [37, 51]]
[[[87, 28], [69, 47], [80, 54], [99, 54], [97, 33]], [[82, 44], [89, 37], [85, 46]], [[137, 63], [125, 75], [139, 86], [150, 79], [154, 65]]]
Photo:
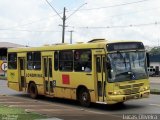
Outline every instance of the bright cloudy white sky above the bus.
[[160, 45], [160, 0], [0, 0], [0, 42], [41, 46], [92, 39], [141, 40]]

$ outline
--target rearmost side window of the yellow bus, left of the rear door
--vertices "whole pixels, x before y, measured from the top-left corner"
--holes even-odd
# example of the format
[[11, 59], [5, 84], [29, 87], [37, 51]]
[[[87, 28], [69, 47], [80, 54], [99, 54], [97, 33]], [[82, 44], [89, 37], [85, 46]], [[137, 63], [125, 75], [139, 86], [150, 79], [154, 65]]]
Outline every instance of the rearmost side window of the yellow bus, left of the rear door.
[[17, 69], [17, 54], [8, 54], [8, 69]]

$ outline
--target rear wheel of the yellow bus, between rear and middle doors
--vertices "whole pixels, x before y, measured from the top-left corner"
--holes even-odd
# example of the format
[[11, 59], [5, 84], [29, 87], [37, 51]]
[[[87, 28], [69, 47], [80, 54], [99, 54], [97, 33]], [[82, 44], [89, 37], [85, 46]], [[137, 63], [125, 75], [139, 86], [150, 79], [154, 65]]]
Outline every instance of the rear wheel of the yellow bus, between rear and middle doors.
[[35, 83], [31, 83], [29, 85], [29, 94], [30, 94], [30, 97], [35, 99], [37, 98], [38, 96], [38, 91], [37, 91], [37, 86]]

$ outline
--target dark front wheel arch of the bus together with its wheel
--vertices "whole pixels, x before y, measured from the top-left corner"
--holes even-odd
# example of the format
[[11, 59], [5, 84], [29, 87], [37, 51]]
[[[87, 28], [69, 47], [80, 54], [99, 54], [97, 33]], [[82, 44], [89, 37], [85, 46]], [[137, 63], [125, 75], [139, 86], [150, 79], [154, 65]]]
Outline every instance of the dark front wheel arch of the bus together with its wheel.
[[89, 90], [87, 87], [80, 85], [78, 86], [76, 90], [77, 100], [80, 102], [80, 104], [84, 107], [89, 107], [91, 103], [91, 97]]

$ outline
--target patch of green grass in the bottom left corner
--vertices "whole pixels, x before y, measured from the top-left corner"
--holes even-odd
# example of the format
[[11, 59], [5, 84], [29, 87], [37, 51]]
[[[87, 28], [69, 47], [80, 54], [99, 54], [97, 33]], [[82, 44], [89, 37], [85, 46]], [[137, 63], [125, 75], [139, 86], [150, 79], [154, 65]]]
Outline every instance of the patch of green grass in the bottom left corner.
[[24, 109], [0, 105], [0, 120], [35, 120], [45, 118], [47, 117], [33, 112], [26, 112]]

